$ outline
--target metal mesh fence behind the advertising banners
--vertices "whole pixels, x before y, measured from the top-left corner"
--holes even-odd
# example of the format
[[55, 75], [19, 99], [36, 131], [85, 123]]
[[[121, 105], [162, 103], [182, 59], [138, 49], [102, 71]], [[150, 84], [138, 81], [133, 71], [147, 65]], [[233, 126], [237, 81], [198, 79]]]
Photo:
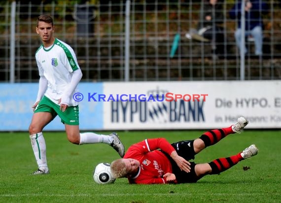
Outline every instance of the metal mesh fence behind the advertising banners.
[[[74, 49], [83, 72], [82, 81], [124, 81], [126, 66], [126, 1], [68, 5], [21, 4], [15, 6], [15, 45], [11, 50], [11, 3], [0, 7], [0, 81], [11, 79], [11, 54], [15, 82], [37, 82], [35, 51], [40, 40], [35, 33], [36, 17], [50, 14], [55, 36]], [[235, 0], [222, 2], [225, 52], [212, 53], [210, 41], [189, 37], [197, 28], [205, 1], [130, 1], [129, 80], [239, 80], [240, 54], [235, 44], [237, 21], [228, 11]], [[254, 44], [246, 39], [245, 79], [281, 78], [281, 6], [266, 1], [263, 15], [263, 56], [255, 57]], [[127, 27], [128, 28], [128, 27]], [[128, 39], [128, 36], [127, 36]]]

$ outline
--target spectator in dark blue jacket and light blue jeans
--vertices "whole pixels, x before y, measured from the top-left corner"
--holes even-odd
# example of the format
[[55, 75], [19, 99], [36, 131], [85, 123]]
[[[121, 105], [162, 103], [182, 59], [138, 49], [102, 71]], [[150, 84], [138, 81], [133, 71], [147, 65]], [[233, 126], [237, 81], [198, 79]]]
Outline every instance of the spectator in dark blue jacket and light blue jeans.
[[[236, 45], [242, 50], [241, 46], [241, 6], [242, 1], [239, 0], [233, 8], [229, 11], [229, 17], [238, 20], [238, 28], [235, 31]], [[263, 45], [263, 22], [262, 14], [268, 11], [268, 5], [262, 0], [246, 0], [245, 1], [245, 35], [251, 35], [254, 39], [255, 44], [255, 55], [262, 55], [262, 45]], [[247, 49], [245, 47], [245, 54]]]

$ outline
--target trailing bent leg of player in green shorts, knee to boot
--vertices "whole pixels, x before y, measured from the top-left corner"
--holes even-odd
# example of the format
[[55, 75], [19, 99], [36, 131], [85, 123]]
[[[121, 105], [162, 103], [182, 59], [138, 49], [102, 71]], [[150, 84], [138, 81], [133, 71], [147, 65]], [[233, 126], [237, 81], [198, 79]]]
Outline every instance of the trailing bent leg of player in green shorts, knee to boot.
[[105, 143], [109, 144], [115, 149], [120, 157], [125, 154], [125, 148], [119, 139], [118, 134], [111, 133], [110, 135], [96, 134], [92, 132], [79, 133], [78, 125], [65, 125], [66, 133], [70, 142], [74, 144], [94, 144], [94, 143]]

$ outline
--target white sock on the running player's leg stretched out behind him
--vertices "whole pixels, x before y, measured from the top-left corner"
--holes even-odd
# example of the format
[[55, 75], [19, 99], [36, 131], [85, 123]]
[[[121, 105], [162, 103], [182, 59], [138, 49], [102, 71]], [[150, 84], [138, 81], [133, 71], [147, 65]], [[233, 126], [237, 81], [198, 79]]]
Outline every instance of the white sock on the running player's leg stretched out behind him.
[[94, 144], [94, 143], [106, 143], [111, 144], [113, 137], [110, 135], [99, 135], [95, 133], [80, 133], [80, 145], [81, 144]]

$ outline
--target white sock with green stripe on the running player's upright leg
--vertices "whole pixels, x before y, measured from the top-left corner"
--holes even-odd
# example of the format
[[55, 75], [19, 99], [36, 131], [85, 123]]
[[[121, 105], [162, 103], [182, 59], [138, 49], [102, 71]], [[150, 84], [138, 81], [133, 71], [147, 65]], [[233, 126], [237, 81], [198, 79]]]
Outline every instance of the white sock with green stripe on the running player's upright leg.
[[30, 139], [38, 168], [44, 168], [48, 170], [46, 158], [46, 143], [43, 137], [43, 133], [40, 132], [34, 135], [30, 135]]

